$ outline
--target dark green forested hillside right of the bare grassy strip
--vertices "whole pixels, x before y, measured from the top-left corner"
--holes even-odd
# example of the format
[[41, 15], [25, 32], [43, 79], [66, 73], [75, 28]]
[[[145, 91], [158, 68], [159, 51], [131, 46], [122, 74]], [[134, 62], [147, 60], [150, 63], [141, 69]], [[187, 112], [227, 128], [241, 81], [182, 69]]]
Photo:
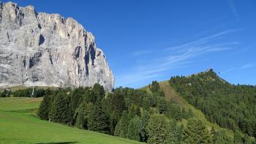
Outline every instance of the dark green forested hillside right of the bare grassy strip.
[[171, 77], [169, 83], [208, 121], [256, 137], [256, 86], [232, 85], [212, 69]]

